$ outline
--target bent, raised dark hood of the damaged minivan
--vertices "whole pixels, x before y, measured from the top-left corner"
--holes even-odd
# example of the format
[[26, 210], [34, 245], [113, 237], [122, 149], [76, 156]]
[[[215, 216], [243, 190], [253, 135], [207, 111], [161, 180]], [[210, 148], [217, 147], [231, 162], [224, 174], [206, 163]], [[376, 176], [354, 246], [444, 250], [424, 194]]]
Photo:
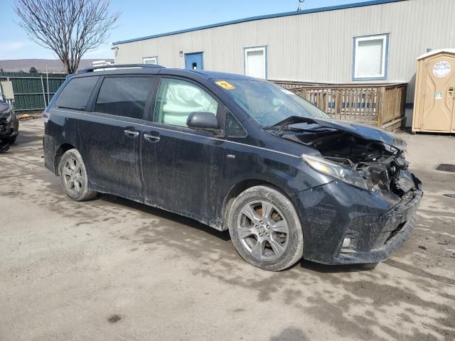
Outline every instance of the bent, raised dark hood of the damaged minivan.
[[281, 122], [278, 122], [274, 126], [285, 126], [299, 123], [317, 124], [318, 126], [324, 128], [346, 131], [365, 140], [380, 141], [384, 144], [400, 149], [400, 151], [404, 151], [406, 149], [406, 142], [403, 139], [400, 139], [400, 137], [397, 137], [394, 134], [390, 133], [389, 131], [385, 131], [384, 129], [380, 129], [375, 126], [358, 124], [353, 121], [343, 121], [341, 119], [330, 118], [291, 116]]

